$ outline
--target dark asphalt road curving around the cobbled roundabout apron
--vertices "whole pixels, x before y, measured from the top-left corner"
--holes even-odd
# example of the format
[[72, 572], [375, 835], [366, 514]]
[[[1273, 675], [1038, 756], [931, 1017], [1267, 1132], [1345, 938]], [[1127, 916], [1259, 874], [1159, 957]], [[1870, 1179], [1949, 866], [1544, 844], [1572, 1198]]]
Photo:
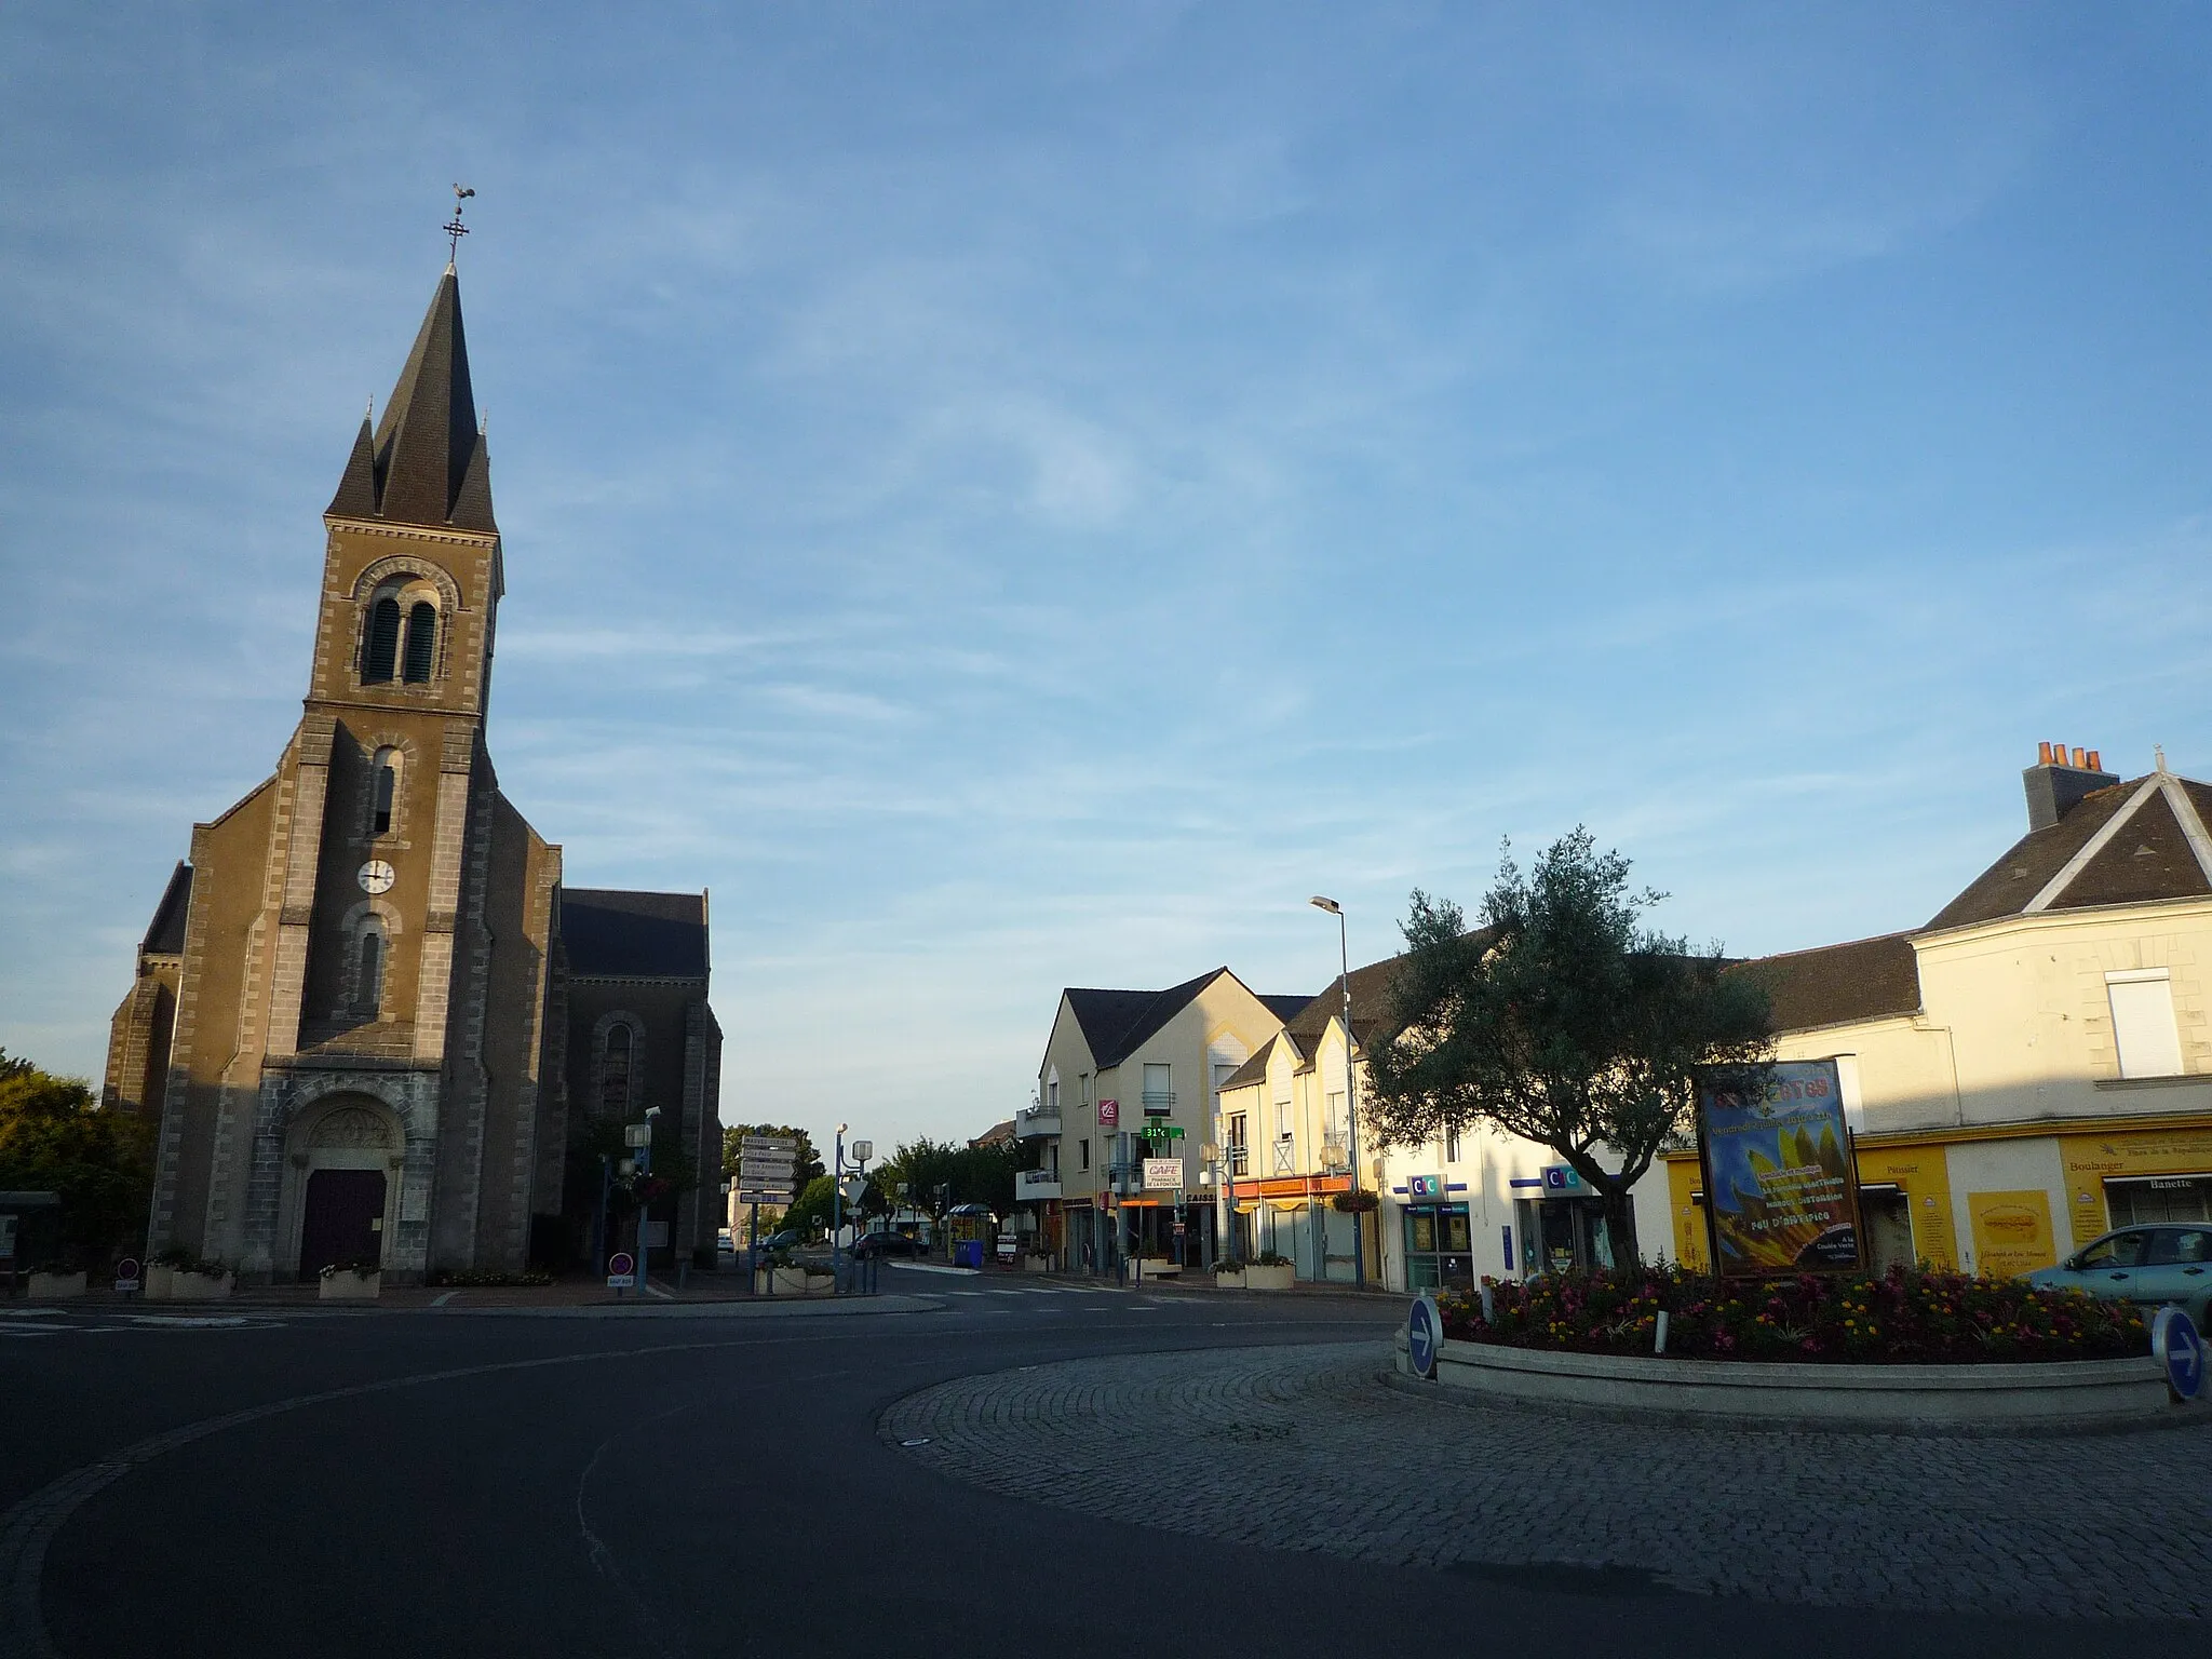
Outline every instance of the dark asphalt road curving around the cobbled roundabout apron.
[[0, 1318], [0, 1655], [2024, 1659], [2203, 1635], [1383, 1566], [995, 1495], [887, 1444], [885, 1411], [1022, 1365], [1383, 1338], [1396, 1305], [980, 1283], [887, 1267], [938, 1307], [865, 1316]]

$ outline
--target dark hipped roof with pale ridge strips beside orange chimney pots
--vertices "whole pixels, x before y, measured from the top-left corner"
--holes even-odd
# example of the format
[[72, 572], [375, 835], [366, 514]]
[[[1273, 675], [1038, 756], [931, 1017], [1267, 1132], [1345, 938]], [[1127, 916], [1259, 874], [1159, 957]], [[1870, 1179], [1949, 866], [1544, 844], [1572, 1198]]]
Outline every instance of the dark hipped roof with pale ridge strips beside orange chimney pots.
[[2046, 830], [2031, 830], [1944, 905], [1927, 931], [2004, 916], [2143, 905], [2212, 894], [2212, 785], [2159, 770], [2095, 790]]

